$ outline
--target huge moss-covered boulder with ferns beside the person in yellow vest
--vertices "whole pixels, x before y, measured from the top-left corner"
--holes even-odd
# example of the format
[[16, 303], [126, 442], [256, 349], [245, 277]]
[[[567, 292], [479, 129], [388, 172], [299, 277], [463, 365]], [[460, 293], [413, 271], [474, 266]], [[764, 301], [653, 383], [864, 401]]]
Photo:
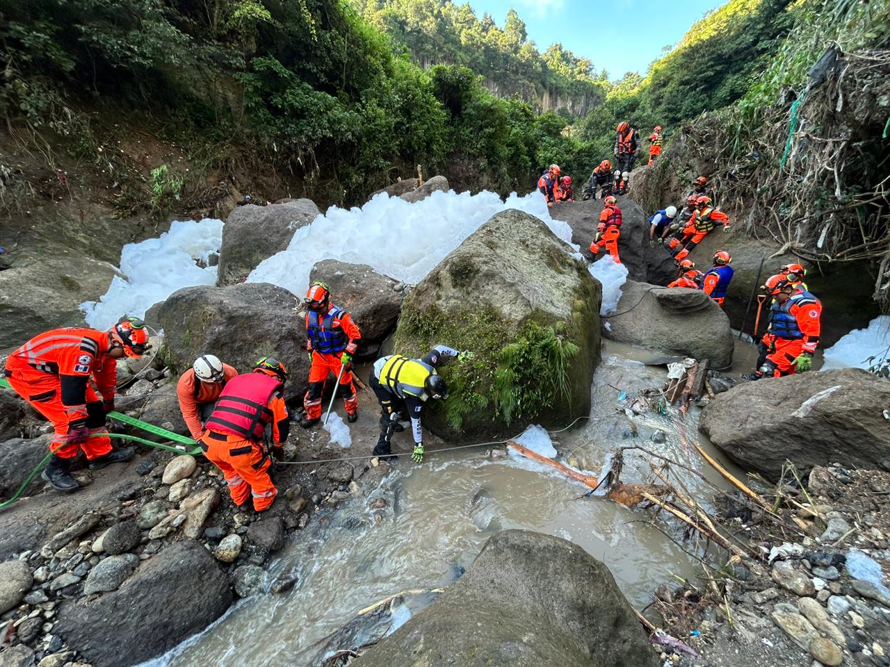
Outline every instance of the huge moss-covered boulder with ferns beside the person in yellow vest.
[[571, 252], [538, 218], [503, 211], [405, 298], [398, 353], [437, 343], [474, 353], [442, 367], [449, 398], [425, 410], [430, 430], [489, 435], [589, 413], [602, 287]]

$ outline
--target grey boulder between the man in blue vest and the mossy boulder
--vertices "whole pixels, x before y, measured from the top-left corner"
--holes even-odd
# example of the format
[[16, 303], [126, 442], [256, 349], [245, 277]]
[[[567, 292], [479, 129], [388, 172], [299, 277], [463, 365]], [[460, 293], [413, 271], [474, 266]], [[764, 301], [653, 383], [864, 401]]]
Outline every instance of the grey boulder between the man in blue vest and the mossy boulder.
[[320, 261], [312, 267], [310, 281], [321, 280], [330, 287], [334, 303], [352, 314], [361, 330], [359, 358], [376, 358], [380, 343], [392, 333], [401, 311], [400, 283], [381, 276], [365, 264]]

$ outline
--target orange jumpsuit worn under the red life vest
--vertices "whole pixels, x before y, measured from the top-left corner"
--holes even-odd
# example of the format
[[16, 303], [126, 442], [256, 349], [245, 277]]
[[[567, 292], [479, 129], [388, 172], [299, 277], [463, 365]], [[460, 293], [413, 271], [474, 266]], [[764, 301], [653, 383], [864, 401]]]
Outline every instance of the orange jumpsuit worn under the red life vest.
[[[232, 502], [241, 507], [252, 495], [254, 509], [263, 511], [275, 501], [278, 490], [269, 477], [271, 460], [261, 444], [262, 438], [255, 434], [246, 438], [244, 435], [221, 431], [225, 427], [218, 426], [214, 421], [218, 414], [222, 414], [223, 420], [227, 416], [231, 416], [218, 412], [221, 410], [225, 398], [234, 397], [236, 405], [244, 401], [241, 398], [242, 392], [239, 390], [239, 378], [250, 375], [255, 374], [242, 374], [226, 383], [226, 389], [223, 390], [220, 402], [214, 409], [214, 414], [211, 414], [207, 420], [207, 428], [198, 440], [198, 445], [206, 457], [222, 470], [226, 484], [229, 486]], [[246, 402], [241, 403], [241, 407], [245, 405]], [[224, 409], [226, 408], [223, 406]], [[253, 408], [247, 406], [245, 409], [249, 411]], [[290, 422], [287, 416], [287, 406], [284, 404], [280, 390], [275, 390], [272, 393], [265, 407], [258, 406], [257, 414], [260, 415], [260, 427], [263, 425], [271, 427], [272, 446], [283, 446], [287, 440]]]

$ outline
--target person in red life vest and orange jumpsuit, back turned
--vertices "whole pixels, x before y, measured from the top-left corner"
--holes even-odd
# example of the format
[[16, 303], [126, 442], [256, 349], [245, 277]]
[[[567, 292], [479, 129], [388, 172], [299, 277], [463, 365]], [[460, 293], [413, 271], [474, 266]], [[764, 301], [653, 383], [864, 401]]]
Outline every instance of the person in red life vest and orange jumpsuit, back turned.
[[[198, 439], [204, 455], [223, 472], [232, 502], [238, 507], [244, 507], [251, 496], [258, 512], [275, 501], [278, 491], [269, 477], [269, 457], [283, 458], [290, 432], [283, 398], [285, 382], [284, 364], [271, 357], [261, 358], [253, 373], [236, 375], [226, 382]], [[271, 451], [263, 445], [267, 428]]]

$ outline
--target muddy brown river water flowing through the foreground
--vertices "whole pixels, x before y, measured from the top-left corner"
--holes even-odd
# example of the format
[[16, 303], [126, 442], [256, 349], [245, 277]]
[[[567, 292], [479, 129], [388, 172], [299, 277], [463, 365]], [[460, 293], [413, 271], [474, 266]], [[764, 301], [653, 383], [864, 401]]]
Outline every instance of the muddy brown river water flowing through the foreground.
[[[619, 391], [632, 397], [666, 382], [664, 366], [641, 363], [652, 360], [644, 350], [607, 342], [591, 388], [596, 419], [554, 434], [554, 446], [563, 460], [599, 475], [617, 448], [638, 444], [723, 486], [694, 450], [686, 451], [671, 417], [657, 411], [635, 416], [619, 411]], [[691, 410], [686, 422], [696, 438], [698, 409]], [[663, 442], [653, 442], [657, 430], [666, 435]], [[727, 464], [707, 442], [702, 445]], [[651, 600], [659, 583], [700, 573], [700, 564], [651, 526], [642, 510], [596, 495], [579, 497], [589, 489], [518, 454], [492, 461], [485, 453], [481, 447], [436, 454], [420, 465], [401, 459], [370, 493], [372, 499], [386, 501], [380, 523], [368, 509], [367, 494], [324, 510], [327, 515], [316, 514], [271, 564], [272, 576], [288, 571], [297, 575], [291, 591], [239, 601], [207, 631], [150, 664], [312, 664], [313, 645], [349, 623], [360, 609], [400, 591], [452, 583], [491, 534], [505, 528], [577, 543], [610, 568], [636, 607]], [[622, 481], [651, 479], [640, 456], [633, 450], [625, 454]], [[710, 501], [712, 493], [699, 478], [687, 474], [684, 481], [702, 502]], [[407, 597], [387, 623], [403, 622], [431, 599]]]

